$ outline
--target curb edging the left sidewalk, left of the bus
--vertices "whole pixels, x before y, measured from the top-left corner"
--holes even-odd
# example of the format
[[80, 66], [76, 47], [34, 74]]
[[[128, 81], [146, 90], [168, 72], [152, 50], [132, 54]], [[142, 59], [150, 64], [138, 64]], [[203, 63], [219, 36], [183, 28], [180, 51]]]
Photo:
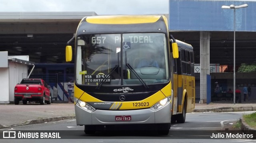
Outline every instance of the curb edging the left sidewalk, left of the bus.
[[42, 119], [30, 119], [28, 121], [26, 121], [25, 123], [21, 123], [21, 124], [14, 124], [14, 125], [0, 125], [0, 129], [1, 128], [7, 128], [7, 127], [16, 127], [16, 126], [20, 126], [20, 125], [31, 125], [31, 124], [36, 124], [36, 123], [44, 123], [44, 122], [49, 122], [49, 121], [60, 121], [63, 119], [75, 119], [76, 116], [58, 116], [58, 117], [50, 117], [50, 118], [42, 118]]

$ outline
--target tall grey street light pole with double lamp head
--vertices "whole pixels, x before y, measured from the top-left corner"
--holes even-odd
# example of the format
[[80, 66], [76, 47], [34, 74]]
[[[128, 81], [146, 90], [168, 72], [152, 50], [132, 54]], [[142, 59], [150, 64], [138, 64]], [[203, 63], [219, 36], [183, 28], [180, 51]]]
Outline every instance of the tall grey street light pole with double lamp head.
[[248, 4], [242, 4], [240, 6], [235, 6], [234, 4], [231, 4], [230, 6], [221, 6], [221, 8], [224, 8], [224, 9], [234, 9], [234, 85], [233, 85], [234, 104], [236, 104], [236, 9], [246, 8], [246, 7], [248, 7]]

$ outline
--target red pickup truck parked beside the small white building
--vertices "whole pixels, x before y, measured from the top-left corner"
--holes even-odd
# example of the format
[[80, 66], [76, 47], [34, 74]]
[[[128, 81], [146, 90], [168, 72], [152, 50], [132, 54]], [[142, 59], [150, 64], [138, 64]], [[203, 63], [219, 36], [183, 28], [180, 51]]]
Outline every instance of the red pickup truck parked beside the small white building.
[[24, 78], [14, 88], [14, 104], [18, 105], [20, 100], [24, 105], [28, 101], [51, 104], [49, 87], [41, 78]]

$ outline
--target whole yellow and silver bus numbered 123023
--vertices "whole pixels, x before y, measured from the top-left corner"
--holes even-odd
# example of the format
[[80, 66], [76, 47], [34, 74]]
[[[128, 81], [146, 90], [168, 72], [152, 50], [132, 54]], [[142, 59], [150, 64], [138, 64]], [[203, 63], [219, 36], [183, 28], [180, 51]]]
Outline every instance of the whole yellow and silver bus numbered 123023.
[[194, 74], [181, 70], [192, 56], [179, 63], [182, 49], [192, 52], [169, 34], [165, 16], [84, 17], [66, 46], [67, 62], [74, 51], [77, 125], [86, 134], [131, 128], [167, 135], [171, 118], [182, 123], [194, 108]]

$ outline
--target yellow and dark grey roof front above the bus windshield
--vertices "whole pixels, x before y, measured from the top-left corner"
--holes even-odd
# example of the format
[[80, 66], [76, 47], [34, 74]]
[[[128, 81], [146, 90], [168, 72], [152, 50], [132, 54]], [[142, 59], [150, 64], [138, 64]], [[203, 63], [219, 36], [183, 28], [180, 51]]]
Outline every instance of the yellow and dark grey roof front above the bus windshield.
[[167, 33], [167, 18], [162, 15], [87, 16], [76, 35], [103, 33]]

